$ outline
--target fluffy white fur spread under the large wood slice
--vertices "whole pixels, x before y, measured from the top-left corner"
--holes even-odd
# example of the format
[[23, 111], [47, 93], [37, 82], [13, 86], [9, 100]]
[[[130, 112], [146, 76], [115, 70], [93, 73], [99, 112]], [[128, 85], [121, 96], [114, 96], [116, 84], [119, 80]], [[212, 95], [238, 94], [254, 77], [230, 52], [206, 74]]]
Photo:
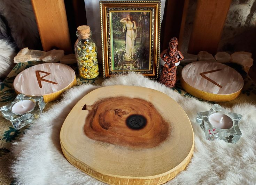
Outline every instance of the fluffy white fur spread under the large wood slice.
[[[143, 86], [161, 91], [176, 100], [187, 113], [195, 134], [194, 154], [187, 168], [166, 184], [256, 184], [255, 106], [240, 104], [227, 109], [243, 115], [239, 124], [243, 135], [237, 144], [208, 141], [195, 124], [195, 117], [197, 112], [210, 110], [212, 104], [181, 96], [133, 73], [104, 81], [103, 86], [109, 85]], [[13, 145], [16, 158], [11, 173], [18, 184], [104, 184], [72, 166], [63, 156], [59, 141], [62, 123], [72, 107], [99, 87], [81, 85], [68, 90], [62, 100], [44, 112], [21, 141]]]

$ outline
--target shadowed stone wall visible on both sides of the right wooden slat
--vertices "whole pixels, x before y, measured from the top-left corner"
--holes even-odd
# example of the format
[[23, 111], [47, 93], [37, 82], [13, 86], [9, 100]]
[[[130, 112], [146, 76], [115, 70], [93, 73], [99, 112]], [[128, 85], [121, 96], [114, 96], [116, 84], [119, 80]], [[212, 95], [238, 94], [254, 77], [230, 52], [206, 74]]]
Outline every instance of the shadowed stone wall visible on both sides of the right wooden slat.
[[[187, 52], [193, 28], [196, 0], [189, 0], [184, 40], [181, 50]], [[218, 51], [247, 51], [256, 60], [256, 0], [233, 0], [228, 11]]]

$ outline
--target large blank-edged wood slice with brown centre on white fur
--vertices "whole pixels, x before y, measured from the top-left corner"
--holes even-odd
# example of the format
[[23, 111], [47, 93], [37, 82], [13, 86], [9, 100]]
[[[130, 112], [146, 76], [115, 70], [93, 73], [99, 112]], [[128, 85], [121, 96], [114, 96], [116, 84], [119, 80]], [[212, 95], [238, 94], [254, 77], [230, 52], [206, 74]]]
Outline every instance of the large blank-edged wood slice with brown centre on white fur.
[[163, 184], [189, 163], [191, 123], [179, 104], [137, 86], [101, 87], [65, 119], [60, 143], [68, 161], [108, 184]]

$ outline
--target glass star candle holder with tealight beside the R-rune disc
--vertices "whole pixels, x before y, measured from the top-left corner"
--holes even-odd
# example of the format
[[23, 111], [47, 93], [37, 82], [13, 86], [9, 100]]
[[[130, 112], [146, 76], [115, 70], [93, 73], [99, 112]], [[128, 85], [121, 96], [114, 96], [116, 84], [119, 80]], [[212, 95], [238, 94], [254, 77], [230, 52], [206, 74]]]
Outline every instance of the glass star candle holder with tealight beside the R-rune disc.
[[3, 117], [10, 120], [16, 130], [33, 123], [45, 108], [43, 96], [29, 97], [18, 94], [13, 102], [0, 107]]

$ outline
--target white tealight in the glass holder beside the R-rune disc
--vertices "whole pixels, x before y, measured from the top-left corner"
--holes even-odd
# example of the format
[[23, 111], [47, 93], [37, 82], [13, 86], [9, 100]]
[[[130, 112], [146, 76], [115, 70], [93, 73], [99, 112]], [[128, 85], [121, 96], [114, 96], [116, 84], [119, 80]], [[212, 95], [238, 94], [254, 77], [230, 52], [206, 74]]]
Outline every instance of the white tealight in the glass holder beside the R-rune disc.
[[35, 102], [31, 100], [22, 100], [13, 105], [11, 111], [16, 114], [23, 114], [25, 112], [31, 111], [35, 106]]

